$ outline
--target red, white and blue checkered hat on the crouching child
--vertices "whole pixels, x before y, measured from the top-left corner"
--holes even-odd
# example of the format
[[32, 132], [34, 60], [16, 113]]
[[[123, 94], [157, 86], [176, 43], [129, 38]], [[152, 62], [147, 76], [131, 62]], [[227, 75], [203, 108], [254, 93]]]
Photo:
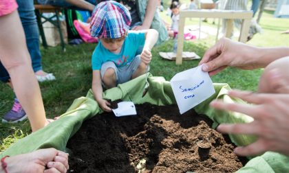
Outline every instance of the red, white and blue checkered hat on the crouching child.
[[98, 3], [92, 12], [90, 34], [98, 38], [120, 38], [129, 30], [131, 15], [116, 1]]

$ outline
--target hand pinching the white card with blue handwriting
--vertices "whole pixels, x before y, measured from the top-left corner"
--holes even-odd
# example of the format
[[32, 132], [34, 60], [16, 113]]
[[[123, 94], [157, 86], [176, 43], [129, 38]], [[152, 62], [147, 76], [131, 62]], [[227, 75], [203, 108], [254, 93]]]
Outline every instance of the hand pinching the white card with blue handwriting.
[[202, 70], [208, 71], [210, 76], [222, 71], [228, 66], [241, 69], [255, 69], [256, 47], [234, 42], [228, 38], [221, 38], [213, 47], [204, 54], [199, 65]]

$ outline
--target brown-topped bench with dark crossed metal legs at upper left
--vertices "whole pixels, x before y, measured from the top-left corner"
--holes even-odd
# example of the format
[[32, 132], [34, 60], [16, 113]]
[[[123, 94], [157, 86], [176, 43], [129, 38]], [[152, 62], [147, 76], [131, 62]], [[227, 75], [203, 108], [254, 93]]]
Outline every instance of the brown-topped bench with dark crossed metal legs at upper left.
[[[37, 24], [39, 27], [39, 33], [41, 35], [43, 47], [47, 48], [47, 41], [46, 41], [44, 30], [43, 30], [43, 23], [50, 22], [52, 23], [52, 25], [54, 25], [58, 29], [59, 36], [61, 38], [61, 47], [63, 51], [65, 51], [65, 43], [64, 43], [63, 33], [61, 32], [61, 23], [59, 21], [59, 13], [62, 12], [63, 9], [60, 7], [52, 6], [52, 5], [39, 5], [39, 4], [34, 4], [34, 8], [35, 8], [36, 20], [37, 20]], [[54, 15], [50, 17], [44, 16], [43, 13], [47, 13], [47, 12], [53, 12]], [[56, 21], [52, 20], [54, 17], [56, 17]]]

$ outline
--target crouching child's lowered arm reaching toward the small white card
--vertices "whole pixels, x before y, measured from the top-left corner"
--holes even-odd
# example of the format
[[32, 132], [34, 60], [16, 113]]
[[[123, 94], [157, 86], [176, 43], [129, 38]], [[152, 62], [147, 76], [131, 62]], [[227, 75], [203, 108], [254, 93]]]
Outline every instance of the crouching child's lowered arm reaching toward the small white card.
[[103, 87], [101, 86], [99, 70], [94, 70], [92, 72], [92, 91], [94, 92], [94, 98], [96, 99], [96, 102], [98, 102], [100, 108], [102, 108], [103, 111], [110, 112], [111, 108], [109, 108], [109, 102], [103, 99]]

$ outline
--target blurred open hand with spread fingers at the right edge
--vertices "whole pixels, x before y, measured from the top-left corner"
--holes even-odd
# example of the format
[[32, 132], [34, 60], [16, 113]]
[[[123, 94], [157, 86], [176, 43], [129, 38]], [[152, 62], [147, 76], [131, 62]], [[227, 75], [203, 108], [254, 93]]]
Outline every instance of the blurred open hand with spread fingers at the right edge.
[[211, 102], [211, 106], [226, 111], [244, 113], [254, 118], [249, 124], [221, 124], [217, 130], [224, 133], [256, 135], [257, 141], [248, 146], [235, 148], [235, 153], [248, 156], [266, 151], [289, 155], [289, 94], [252, 93], [230, 91], [251, 104]]

